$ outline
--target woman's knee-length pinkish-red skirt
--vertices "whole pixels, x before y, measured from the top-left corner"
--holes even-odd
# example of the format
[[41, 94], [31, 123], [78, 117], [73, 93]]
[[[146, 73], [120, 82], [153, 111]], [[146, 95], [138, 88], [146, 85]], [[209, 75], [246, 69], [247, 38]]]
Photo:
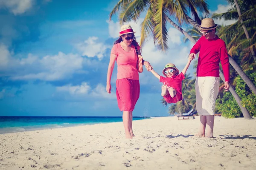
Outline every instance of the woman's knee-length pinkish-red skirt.
[[116, 99], [120, 111], [133, 111], [140, 97], [140, 81], [134, 79], [116, 80]]

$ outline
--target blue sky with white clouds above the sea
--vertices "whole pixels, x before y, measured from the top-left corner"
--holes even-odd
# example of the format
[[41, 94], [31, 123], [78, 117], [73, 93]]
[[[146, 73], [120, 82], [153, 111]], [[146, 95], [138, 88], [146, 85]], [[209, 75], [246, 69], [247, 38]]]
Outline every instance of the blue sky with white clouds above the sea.
[[[0, 0], [0, 116], [122, 116], [116, 68], [112, 92], [105, 91], [110, 51], [120, 30], [117, 16], [109, 21], [117, 2]], [[208, 4], [211, 13], [229, 8], [224, 0]], [[129, 23], [138, 41], [142, 20]], [[152, 40], [142, 48], [159, 74], [168, 62], [182, 70], [192, 47], [175, 28], [168, 26], [168, 31], [166, 53], [157, 51]], [[192, 65], [190, 74], [195, 72]], [[134, 116], [168, 116], [168, 108], [160, 104], [158, 79], [144, 71], [140, 84]]]

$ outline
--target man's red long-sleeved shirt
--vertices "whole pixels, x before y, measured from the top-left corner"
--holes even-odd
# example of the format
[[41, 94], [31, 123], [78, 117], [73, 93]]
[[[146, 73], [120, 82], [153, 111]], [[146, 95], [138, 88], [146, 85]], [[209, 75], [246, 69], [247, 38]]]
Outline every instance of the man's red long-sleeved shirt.
[[221, 62], [225, 81], [229, 82], [230, 72], [225, 42], [218, 36], [210, 40], [203, 36], [195, 43], [190, 53], [197, 54], [199, 51], [197, 77], [220, 77], [219, 63]]

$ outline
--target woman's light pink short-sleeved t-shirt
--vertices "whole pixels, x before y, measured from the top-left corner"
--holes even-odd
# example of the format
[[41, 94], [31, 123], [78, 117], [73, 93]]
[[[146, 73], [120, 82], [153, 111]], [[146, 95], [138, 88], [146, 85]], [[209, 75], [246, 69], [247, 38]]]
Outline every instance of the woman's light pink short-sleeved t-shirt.
[[[137, 46], [140, 49], [140, 46]], [[137, 70], [137, 53], [134, 45], [131, 45], [131, 51], [125, 51], [120, 43], [113, 45], [111, 50], [112, 54], [115, 54], [117, 63], [117, 79], [139, 79], [139, 73]]]

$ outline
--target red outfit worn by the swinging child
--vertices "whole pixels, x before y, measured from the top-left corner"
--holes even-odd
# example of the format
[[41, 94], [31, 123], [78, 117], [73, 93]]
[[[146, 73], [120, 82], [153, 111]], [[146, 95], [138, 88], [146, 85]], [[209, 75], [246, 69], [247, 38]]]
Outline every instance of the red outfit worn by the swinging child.
[[[162, 82], [164, 85], [175, 88], [176, 91], [179, 92], [180, 94], [182, 94], [182, 80], [183, 79], [185, 79], [185, 77], [182, 72], [173, 77], [160, 76], [160, 82]], [[181, 99], [182, 99], [182, 95], [181, 95]]]

